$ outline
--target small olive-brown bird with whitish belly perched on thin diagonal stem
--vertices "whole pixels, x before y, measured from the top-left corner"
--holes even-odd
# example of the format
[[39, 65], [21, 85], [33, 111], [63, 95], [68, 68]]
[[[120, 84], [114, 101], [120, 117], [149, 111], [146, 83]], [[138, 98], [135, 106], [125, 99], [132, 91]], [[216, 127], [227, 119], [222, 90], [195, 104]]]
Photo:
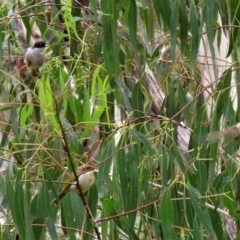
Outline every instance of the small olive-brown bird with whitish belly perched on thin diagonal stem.
[[[81, 187], [82, 193], [88, 191], [95, 182], [94, 176], [94, 166], [87, 164], [76, 169], [76, 174], [78, 176], [78, 183]], [[79, 193], [77, 187], [77, 181], [73, 173], [66, 179], [66, 183], [63, 184], [62, 190], [59, 192], [56, 199], [52, 201], [54, 204], [58, 204], [62, 198], [69, 192]]]

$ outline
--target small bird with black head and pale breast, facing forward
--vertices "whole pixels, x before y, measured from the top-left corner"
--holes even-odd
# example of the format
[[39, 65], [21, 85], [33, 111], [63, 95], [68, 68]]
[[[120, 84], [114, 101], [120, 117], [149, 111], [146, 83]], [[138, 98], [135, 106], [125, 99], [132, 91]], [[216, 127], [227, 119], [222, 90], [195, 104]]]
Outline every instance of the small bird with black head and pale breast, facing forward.
[[39, 69], [45, 62], [44, 51], [48, 45], [44, 41], [37, 41], [26, 51], [25, 58], [28, 67]]

